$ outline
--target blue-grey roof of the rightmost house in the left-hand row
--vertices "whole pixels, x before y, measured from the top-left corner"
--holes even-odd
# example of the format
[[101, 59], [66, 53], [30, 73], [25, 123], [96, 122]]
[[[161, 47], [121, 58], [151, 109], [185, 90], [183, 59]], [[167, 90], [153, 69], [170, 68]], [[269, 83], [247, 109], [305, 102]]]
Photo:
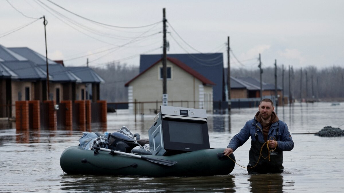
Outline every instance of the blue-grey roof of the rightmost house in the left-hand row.
[[105, 80], [101, 78], [92, 68], [81, 67], [66, 67], [68, 70], [78, 76], [83, 83], [104, 83]]

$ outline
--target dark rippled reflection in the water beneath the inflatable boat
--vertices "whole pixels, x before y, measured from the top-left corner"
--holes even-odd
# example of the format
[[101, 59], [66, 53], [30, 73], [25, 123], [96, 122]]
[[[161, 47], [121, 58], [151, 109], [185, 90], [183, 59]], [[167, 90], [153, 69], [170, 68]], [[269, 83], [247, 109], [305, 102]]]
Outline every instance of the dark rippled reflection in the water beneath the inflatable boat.
[[112, 177], [61, 175], [61, 190], [80, 192], [236, 192], [234, 175], [212, 177]]

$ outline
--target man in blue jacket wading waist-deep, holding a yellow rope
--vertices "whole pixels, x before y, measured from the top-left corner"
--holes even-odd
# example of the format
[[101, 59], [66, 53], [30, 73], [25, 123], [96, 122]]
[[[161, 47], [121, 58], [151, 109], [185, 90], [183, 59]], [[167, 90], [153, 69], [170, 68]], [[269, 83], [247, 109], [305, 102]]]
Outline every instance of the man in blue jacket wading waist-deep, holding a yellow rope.
[[[270, 99], [263, 99], [258, 110], [254, 119], [247, 121], [240, 132], [230, 140], [224, 154], [225, 156], [232, 154], [251, 137], [248, 173], [282, 173], [283, 151], [294, 148], [293, 139], [287, 124], [279, 120], [273, 111], [275, 106]], [[260, 152], [262, 157], [260, 157]]]

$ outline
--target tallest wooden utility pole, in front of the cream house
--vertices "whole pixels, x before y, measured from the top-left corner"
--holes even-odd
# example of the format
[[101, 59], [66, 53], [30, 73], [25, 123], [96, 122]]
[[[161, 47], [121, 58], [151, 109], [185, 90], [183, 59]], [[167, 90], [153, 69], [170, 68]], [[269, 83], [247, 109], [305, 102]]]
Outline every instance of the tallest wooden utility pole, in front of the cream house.
[[168, 95], [167, 95], [167, 68], [166, 68], [166, 14], [165, 8], [162, 9], [163, 14], [163, 57], [162, 57], [162, 105], [167, 106], [168, 104]]

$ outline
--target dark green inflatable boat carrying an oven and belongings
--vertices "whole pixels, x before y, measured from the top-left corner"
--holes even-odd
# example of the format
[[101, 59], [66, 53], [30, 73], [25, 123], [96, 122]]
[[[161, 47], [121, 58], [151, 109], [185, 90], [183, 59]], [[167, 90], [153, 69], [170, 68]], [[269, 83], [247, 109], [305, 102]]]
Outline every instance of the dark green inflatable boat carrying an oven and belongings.
[[171, 156], [127, 155], [100, 149], [92, 151], [79, 146], [68, 147], [60, 158], [62, 170], [67, 174], [168, 177], [227, 175], [235, 166], [234, 155], [230, 155], [234, 161], [224, 156], [224, 148], [201, 149]]

